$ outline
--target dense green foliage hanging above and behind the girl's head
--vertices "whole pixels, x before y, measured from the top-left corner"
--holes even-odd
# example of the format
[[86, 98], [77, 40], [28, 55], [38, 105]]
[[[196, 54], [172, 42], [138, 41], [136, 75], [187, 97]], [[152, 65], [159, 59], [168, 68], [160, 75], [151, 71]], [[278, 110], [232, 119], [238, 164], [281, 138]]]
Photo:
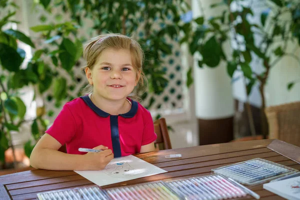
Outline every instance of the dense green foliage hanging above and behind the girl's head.
[[[160, 94], [167, 85], [162, 69], [162, 55], [172, 53], [167, 41], [177, 41], [184, 27], [180, 14], [188, 5], [183, 0], [55, 0], [41, 1], [48, 11], [61, 9], [82, 26], [91, 19], [91, 36], [105, 32], [131, 35], [139, 41], [144, 52], [144, 73], [149, 92]], [[50, 6], [51, 5], [51, 6]], [[138, 32], [138, 30], [141, 30]], [[148, 92], [142, 94], [146, 98]], [[155, 101], [152, 96], [147, 107]]]

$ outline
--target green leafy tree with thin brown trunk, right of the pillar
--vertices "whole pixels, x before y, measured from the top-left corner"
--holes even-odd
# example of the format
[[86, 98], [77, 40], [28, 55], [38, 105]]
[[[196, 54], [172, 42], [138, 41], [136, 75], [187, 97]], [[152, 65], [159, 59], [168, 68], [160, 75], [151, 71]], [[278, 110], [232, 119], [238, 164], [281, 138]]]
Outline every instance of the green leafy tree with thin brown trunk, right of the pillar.
[[[232, 4], [238, 7], [232, 11]], [[192, 54], [198, 52], [202, 59], [198, 60], [199, 67], [216, 67], [221, 60], [227, 62], [227, 72], [231, 78], [235, 71], [241, 71], [247, 95], [252, 86], [259, 84], [261, 96], [261, 129], [264, 137], [267, 135], [267, 121], [264, 114], [265, 96], [264, 87], [267, 83], [270, 69], [284, 56], [290, 56], [300, 64], [300, 58], [294, 52], [287, 52], [288, 41], [297, 41], [300, 44], [300, 2], [294, 0], [263, 0], [260, 3], [267, 8], [261, 13], [255, 13], [253, 1], [222, 0], [211, 4], [211, 8], [223, 8], [220, 16], [205, 18], [200, 16], [194, 21], [197, 24], [189, 40], [189, 49]], [[201, 8], [203, 10], [203, 8]], [[260, 15], [260, 22], [249, 20], [254, 14]], [[283, 15], [288, 19], [282, 20]], [[260, 42], [255, 41], [255, 35], [261, 37]], [[242, 38], [242, 39], [238, 39]], [[233, 41], [231, 53], [226, 56], [223, 43]], [[231, 42], [232, 43], [232, 42]], [[295, 43], [295, 42], [294, 42]], [[256, 55], [254, 60], [253, 54]], [[250, 67], [250, 62], [260, 61], [263, 72], [256, 72]], [[190, 71], [188, 79], [191, 80]], [[191, 81], [189, 81], [190, 83]], [[287, 89], [294, 82], [287, 85]]]

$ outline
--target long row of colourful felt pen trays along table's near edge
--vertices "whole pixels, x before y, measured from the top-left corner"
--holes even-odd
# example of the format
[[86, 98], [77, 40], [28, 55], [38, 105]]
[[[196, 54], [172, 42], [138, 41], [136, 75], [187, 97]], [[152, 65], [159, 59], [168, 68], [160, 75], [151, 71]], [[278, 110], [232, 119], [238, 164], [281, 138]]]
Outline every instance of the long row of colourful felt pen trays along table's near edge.
[[255, 198], [259, 195], [246, 187], [221, 175], [197, 176], [171, 181], [151, 181], [108, 189], [98, 186], [76, 187], [70, 189], [38, 193], [39, 200], [56, 199], [230, 199], [244, 197], [247, 194]]

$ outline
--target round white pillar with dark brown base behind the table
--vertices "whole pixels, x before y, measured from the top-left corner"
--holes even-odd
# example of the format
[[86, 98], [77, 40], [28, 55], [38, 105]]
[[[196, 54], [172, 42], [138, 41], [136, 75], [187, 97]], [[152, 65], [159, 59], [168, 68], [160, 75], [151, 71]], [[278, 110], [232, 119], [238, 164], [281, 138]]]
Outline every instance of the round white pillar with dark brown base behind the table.
[[[212, 3], [217, 2], [220, 2], [220, 0], [192, 0], [193, 17], [196, 18], [203, 15], [202, 11], [204, 11], [206, 19], [209, 16], [220, 15], [225, 7], [210, 8]], [[203, 9], [201, 9], [200, 4]], [[225, 48], [223, 49], [230, 50], [229, 42], [224, 45]], [[195, 114], [199, 124], [199, 142], [200, 144], [226, 142], [225, 137], [223, 137], [224, 141], [222, 139], [218, 140], [219, 137], [223, 136], [222, 134], [231, 134], [229, 136], [231, 139], [233, 137], [234, 102], [230, 77], [226, 72], [226, 63], [220, 62], [215, 68], [205, 65], [199, 68], [197, 64], [198, 57], [197, 55], [194, 56], [193, 74]], [[231, 124], [228, 125], [228, 123]], [[226, 127], [222, 127], [223, 125]], [[227, 128], [227, 130], [218, 132], [218, 129], [222, 130], [223, 128]]]

